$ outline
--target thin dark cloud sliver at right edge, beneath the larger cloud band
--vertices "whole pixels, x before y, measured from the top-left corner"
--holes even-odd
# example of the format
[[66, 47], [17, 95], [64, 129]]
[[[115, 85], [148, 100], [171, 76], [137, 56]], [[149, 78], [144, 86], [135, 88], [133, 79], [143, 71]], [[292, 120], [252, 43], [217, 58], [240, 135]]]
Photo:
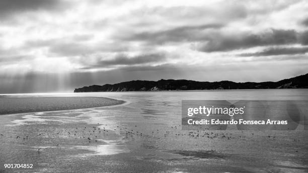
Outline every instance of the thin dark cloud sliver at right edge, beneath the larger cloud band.
[[308, 47], [290, 47], [290, 48], [268, 48], [262, 52], [243, 53], [241, 56], [272, 56], [272, 55], [294, 55], [305, 54], [308, 52]]

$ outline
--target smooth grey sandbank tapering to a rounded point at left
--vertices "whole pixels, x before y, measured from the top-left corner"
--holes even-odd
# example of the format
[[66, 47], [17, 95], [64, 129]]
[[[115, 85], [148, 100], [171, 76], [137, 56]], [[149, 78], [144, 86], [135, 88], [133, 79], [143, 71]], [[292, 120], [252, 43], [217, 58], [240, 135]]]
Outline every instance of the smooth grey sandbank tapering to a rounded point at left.
[[104, 97], [0, 97], [0, 115], [90, 109], [124, 103], [125, 101]]

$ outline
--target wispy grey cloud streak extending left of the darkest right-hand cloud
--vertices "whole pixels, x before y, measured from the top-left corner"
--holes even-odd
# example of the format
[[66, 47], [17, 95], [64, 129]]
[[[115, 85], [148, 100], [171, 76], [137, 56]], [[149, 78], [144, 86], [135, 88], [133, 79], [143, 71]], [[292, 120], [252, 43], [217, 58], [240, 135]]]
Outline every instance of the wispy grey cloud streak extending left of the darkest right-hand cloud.
[[204, 33], [207, 29], [219, 29], [223, 27], [222, 24], [206, 24], [199, 26], [182, 26], [170, 30], [163, 30], [157, 32], [142, 32], [124, 36], [124, 40], [128, 41], [145, 41], [149, 44], [162, 44], [166, 42], [185, 42], [185, 41], [200, 41], [208, 38]]

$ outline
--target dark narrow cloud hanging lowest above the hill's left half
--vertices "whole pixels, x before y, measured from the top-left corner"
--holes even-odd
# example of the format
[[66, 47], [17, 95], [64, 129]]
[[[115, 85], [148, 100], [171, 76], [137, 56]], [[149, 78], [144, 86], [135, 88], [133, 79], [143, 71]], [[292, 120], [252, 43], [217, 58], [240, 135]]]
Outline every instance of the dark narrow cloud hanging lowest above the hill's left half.
[[87, 66], [83, 69], [112, 67], [115, 65], [140, 65], [147, 63], [162, 62], [166, 60], [164, 53], [141, 54], [138, 56], [128, 57], [126, 55], [118, 55], [110, 60], [100, 60], [95, 64]]

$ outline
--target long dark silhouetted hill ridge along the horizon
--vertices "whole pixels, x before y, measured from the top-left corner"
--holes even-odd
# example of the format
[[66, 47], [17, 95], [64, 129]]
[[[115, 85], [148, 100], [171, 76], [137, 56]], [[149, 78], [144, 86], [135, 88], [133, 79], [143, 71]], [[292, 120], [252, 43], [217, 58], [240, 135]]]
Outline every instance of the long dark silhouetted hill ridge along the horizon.
[[240, 89], [306, 89], [308, 73], [276, 82], [233, 82], [233, 81], [194, 81], [194, 80], [132, 80], [116, 84], [91, 85], [75, 89], [82, 92], [127, 92], [127, 91], [174, 91], [174, 90], [240, 90]]

